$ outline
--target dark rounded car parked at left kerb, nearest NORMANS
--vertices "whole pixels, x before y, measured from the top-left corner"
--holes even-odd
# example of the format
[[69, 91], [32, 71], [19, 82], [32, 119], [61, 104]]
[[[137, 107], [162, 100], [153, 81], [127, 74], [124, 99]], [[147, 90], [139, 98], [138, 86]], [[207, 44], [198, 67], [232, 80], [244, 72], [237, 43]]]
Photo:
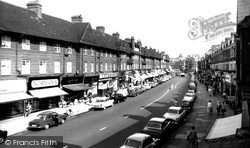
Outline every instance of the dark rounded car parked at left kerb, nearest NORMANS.
[[58, 114], [54, 111], [45, 111], [36, 116], [36, 119], [29, 122], [28, 129], [38, 129], [44, 128], [48, 129], [51, 126], [63, 124], [66, 119], [67, 115]]

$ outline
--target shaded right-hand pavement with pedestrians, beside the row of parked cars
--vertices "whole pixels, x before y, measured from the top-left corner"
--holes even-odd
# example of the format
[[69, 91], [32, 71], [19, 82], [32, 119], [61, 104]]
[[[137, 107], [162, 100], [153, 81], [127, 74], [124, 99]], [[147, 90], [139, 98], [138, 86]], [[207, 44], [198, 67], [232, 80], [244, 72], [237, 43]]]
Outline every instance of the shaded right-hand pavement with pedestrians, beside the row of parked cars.
[[[188, 144], [186, 140], [186, 132], [191, 129], [191, 126], [194, 125], [197, 130], [199, 148], [239, 148], [242, 147], [242, 143], [237, 141], [228, 141], [228, 142], [217, 142], [217, 143], [206, 143], [205, 136], [209, 132], [213, 123], [218, 118], [225, 118], [234, 115], [234, 111], [226, 105], [227, 112], [224, 117], [218, 115], [216, 112], [216, 103], [217, 101], [222, 102], [221, 96], [209, 96], [209, 93], [206, 91], [203, 84], [198, 84], [197, 87], [197, 100], [194, 105], [193, 111], [188, 115], [188, 118], [184, 125], [182, 125], [175, 137], [169, 140], [162, 148], [191, 148], [191, 145]], [[207, 102], [211, 100], [213, 105], [213, 114], [209, 115], [207, 112]]]

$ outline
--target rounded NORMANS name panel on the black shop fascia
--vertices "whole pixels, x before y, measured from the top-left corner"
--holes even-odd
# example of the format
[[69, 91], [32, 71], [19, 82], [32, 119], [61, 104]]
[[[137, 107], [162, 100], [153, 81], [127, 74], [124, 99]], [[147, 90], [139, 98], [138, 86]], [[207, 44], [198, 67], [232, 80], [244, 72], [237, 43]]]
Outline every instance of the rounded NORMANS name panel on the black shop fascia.
[[47, 86], [56, 86], [58, 84], [59, 84], [58, 79], [33, 80], [31, 82], [31, 87], [39, 88], [39, 87], [47, 87]]

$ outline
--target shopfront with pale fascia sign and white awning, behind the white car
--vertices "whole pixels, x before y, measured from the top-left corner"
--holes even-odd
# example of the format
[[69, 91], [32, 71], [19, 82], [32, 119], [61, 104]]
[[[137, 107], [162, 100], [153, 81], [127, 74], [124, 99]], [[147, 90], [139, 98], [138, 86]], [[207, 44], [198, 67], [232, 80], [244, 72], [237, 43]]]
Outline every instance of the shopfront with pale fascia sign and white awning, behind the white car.
[[100, 73], [98, 96], [111, 95], [118, 89], [118, 72]]

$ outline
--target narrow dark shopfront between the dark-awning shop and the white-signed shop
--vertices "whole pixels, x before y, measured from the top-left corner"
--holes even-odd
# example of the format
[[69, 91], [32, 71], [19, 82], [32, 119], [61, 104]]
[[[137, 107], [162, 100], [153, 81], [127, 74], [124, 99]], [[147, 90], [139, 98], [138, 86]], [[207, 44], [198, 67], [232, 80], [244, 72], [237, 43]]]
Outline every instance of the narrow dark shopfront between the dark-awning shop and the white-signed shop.
[[87, 86], [90, 86], [91, 89], [89, 89], [86, 93], [92, 93], [93, 97], [97, 96], [97, 90], [98, 90], [98, 81], [99, 81], [99, 74], [85, 74], [84, 75], [84, 84]]

